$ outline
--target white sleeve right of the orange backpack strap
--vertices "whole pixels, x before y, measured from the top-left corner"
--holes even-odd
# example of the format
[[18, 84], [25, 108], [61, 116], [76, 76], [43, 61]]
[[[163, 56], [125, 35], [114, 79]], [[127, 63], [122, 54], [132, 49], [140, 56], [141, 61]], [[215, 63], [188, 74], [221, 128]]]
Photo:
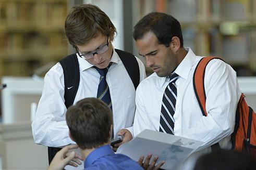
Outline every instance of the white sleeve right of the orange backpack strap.
[[234, 131], [235, 113], [241, 95], [236, 72], [221, 60], [212, 60], [205, 70], [206, 111], [208, 116], [189, 128], [184, 137], [203, 141], [207, 148]]

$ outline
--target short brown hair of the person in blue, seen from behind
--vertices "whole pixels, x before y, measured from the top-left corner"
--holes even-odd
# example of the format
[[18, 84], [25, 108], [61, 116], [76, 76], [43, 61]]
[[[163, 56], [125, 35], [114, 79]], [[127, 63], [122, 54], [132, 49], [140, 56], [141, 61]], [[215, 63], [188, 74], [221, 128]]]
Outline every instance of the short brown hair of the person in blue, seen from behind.
[[109, 142], [109, 130], [113, 124], [112, 111], [97, 98], [85, 98], [70, 106], [66, 122], [72, 138], [79, 148], [97, 148]]

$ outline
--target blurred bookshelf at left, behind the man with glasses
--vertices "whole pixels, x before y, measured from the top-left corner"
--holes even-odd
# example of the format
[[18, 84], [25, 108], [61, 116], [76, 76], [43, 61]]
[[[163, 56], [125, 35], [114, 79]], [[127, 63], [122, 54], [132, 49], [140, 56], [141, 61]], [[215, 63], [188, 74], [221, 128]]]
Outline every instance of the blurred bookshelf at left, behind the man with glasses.
[[29, 76], [68, 54], [68, 0], [0, 1], [0, 76]]

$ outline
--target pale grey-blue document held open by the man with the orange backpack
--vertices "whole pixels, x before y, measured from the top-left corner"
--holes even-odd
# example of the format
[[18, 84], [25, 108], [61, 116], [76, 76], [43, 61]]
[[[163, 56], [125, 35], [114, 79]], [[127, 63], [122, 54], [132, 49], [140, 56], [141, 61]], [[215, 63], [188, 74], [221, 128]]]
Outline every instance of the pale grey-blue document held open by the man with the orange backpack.
[[152, 158], [159, 156], [157, 163], [165, 161], [161, 168], [177, 169], [201, 145], [202, 142], [197, 140], [145, 129], [137, 137], [121, 145], [116, 153], [125, 154], [135, 161], [141, 155], [152, 153]]

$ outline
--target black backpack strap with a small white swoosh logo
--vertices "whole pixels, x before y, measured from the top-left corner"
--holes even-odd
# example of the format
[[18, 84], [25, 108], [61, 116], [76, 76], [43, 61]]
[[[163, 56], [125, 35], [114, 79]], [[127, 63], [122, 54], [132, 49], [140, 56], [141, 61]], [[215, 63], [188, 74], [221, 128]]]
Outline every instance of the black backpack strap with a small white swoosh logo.
[[59, 61], [59, 63], [63, 68], [65, 85], [64, 99], [66, 108], [68, 108], [74, 103], [79, 86], [79, 63], [76, 54], [72, 54], [63, 58]]

